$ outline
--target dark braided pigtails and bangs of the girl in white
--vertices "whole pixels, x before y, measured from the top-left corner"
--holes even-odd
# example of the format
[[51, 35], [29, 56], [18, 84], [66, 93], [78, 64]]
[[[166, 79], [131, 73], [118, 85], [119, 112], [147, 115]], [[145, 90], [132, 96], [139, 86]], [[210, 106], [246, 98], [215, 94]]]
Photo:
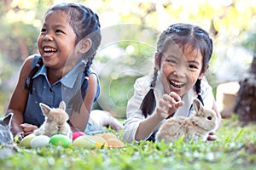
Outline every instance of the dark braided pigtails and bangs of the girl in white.
[[[190, 24], [178, 23], [169, 26], [166, 31], [160, 34], [159, 41], [157, 42], [158, 59], [160, 60], [163, 52], [170, 45], [170, 42], [174, 42], [179, 46], [185, 46], [189, 44], [192, 48], [198, 48], [201, 51], [203, 57], [203, 66], [201, 72], [206, 71], [207, 65], [212, 57], [212, 38], [209, 37], [207, 31], [203, 30], [199, 26], [193, 26]], [[143, 116], [147, 117], [152, 114], [155, 108], [154, 86], [156, 82], [157, 71], [154, 68], [154, 77], [150, 85], [148, 94], [143, 99], [141, 104], [141, 110]], [[195, 91], [198, 95], [198, 99], [201, 98], [201, 80], [195, 82]], [[152, 105], [154, 104], [154, 105]]]

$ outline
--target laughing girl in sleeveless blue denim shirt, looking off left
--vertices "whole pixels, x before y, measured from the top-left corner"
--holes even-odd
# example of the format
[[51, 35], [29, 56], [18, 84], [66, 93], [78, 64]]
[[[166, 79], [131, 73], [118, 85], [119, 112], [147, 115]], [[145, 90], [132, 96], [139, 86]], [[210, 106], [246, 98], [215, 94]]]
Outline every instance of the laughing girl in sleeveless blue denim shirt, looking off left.
[[9, 103], [13, 134], [28, 135], [44, 122], [39, 103], [67, 105], [73, 131], [87, 126], [93, 102], [99, 96], [98, 77], [90, 65], [102, 40], [97, 14], [83, 5], [61, 3], [49, 8], [38, 37], [40, 54], [24, 62]]

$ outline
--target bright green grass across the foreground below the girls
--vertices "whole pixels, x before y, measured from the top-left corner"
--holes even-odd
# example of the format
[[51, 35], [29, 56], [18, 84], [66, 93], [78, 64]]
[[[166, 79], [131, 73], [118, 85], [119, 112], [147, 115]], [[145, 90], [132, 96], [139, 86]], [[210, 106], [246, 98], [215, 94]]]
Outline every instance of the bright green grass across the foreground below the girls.
[[[118, 133], [122, 136], [121, 132]], [[214, 142], [178, 140], [174, 144], [142, 142], [123, 149], [85, 150], [48, 147], [25, 150], [0, 160], [2, 169], [255, 169], [256, 124], [241, 127], [225, 119]]]

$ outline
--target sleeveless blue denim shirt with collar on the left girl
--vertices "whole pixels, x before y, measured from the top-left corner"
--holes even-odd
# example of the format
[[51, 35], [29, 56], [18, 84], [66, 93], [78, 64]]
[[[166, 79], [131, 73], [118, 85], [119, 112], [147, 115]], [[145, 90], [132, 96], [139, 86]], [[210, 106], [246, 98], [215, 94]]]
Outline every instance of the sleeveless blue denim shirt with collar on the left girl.
[[[39, 55], [35, 55], [32, 68], [37, 64]], [[40, 127], [44, 122], [44, 115], [39, 103], [49, 105], [50, 108], [58, 108], [61, 101], [66, 103], [66, 111], [69, 116], [72, 115], [72, 106], [67, 105], [70, 99], [80, 90], [83, 81], [86, 81], [85, 94], [88, 89], [88, 81], [84, 80], [84, 61], [80, 61], [71, 71], [62, 77], [59, 81], [49, 84], [45, 65], [41, 66], [38, 72], [32, 77], [33, 86], [32, 94], [28, 95], [26, 111], [24, 113], [24, 122]], [[95, 71], [89, 70], [90, 74], [96, 74]], [[97, 76], [97, 75], [96, 75]], [[29, 79], [26, 80], [26, 83]], [[97, 81], [97, 92], [94, 101], [100, 94], [99, 81]]]

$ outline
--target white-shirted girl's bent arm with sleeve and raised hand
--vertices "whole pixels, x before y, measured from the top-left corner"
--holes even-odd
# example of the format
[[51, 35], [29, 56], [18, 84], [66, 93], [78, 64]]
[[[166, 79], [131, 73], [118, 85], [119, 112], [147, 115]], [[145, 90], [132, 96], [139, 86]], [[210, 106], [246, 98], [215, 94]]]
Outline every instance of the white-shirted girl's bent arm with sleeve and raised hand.
[[[149, 77], [141, 77], [137, 79], [133, 86], [134, 94], [128, 101], [124, 122], [124, 138], [126, 142], [148, 139], [166, 116], [172, 115], [176, 111], [176, 107], [183, 105], [183, 101], [180, 101], [176, 94], [164, 94], [162, 99], [157, 101], [159, 103], [152, 115], [145, 118], [140, 110], [140, 105], [144, 96], [148, 93], [150, 83], [151, 79]], [[175, 103], [178, 104], [176, 105]], [[169, 109], [170, 105], [174, 105], [174, 107]]]

